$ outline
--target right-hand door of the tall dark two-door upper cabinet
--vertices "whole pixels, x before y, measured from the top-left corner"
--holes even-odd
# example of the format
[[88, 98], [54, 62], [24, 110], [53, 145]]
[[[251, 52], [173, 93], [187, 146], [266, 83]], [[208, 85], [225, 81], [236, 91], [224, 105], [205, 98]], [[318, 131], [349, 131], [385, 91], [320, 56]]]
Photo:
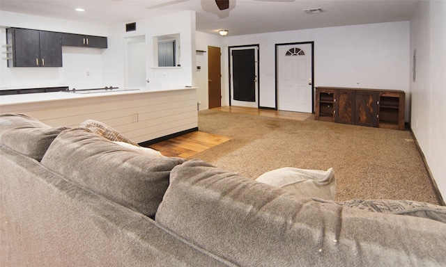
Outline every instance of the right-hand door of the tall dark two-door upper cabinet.
[[40, 67], [62, 67], [61, 33], [40, 31]]

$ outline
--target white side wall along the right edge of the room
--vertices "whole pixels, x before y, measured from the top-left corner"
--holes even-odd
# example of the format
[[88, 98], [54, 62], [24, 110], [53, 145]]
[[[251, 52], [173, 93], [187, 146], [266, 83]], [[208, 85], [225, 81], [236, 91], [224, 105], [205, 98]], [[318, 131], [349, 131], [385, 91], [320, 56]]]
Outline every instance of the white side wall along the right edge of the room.
[[[420, 1], [410, 21], [410, 126], [443, 199], [446, 196], [446, 1]], [[413, 63], [410, 64], [413, 67]]]

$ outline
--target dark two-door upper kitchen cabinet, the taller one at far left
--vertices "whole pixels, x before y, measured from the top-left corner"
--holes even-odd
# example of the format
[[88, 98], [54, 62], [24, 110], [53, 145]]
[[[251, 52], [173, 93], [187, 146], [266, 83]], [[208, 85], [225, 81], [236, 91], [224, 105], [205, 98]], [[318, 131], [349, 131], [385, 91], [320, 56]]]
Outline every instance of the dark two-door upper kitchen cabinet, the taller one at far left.
[[6, 29], [12, 47], [8, 67], [62, 67], [61, 33], [30, 29]]

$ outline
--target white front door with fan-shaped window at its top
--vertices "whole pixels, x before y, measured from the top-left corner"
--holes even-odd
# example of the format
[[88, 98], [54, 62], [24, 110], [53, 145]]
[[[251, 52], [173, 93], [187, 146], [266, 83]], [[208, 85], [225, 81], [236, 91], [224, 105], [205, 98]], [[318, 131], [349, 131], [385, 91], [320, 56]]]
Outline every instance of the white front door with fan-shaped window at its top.
[[312, 44], [277, 46], [277, 109], [312, 113]]

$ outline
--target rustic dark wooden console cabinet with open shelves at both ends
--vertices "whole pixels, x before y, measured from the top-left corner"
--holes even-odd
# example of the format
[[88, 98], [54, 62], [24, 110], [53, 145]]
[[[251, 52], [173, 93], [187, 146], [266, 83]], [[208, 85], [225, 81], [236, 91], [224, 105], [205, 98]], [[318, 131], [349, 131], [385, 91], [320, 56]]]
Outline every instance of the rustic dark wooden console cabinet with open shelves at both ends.
[[404, 130], [402, 90], [316, 87], [315, 119]]

